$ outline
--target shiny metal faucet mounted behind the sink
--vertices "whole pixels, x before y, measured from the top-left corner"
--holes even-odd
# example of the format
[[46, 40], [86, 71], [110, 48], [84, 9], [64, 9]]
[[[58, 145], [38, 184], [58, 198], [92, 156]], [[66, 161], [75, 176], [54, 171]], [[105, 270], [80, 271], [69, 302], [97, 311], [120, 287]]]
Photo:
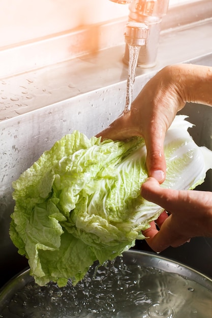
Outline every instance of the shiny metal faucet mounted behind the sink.
[[[141, 68], [150, 68], [156, 65], [158, 44], [160, 38], [160, 25], [164, 15], [166, 15], [169, 0], [110, 0], [118, 4], [129, 4], [128, 21], [142, 23], [147, 26], [148, 33], [145, 43], [141, 44], [137, 66]], [[131, 28], [130, 38], [132, 43], [138, 41], [139, 33], [143, 36], [143, 30], [139, 27]], [[129, 36], [126, 36], [126, 48], [123, 61], [129, 63]], [[141, 41], [142, 42], [142, 41]], [[135, 44], [136, 45], [136, 44]], [[139, 45], [139, 44], [138, 44]]]

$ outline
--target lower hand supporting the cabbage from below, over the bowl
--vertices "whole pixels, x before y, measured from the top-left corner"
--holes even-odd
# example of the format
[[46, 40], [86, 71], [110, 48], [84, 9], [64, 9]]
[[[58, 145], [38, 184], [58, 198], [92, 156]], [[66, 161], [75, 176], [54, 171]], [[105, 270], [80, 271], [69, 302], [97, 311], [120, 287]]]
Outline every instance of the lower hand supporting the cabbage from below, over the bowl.
[[143, 234], [148, 245], [159, 252], [168, 246], [177, 247], [192, 237], [212, 237], [212, 193], [196, 190], [162, 188], [154, 178], [142, 184], [141, 195], [165, 211]]

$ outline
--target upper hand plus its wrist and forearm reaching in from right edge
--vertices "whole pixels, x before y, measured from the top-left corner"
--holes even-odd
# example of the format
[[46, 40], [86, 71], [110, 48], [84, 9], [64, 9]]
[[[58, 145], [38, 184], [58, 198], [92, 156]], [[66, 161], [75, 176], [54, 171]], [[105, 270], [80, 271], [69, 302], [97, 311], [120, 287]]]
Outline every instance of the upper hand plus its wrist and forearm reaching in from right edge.
[[212, 68], [191, 64], [165, 67], [147, 82], [130, 112], [120, 115], [97, 137], [113, 140], [143, 137], [148, 175], [162, 183], [166, 176], [163, 151], [166, 131], [186, 102], [212, 105], [211, 85]]

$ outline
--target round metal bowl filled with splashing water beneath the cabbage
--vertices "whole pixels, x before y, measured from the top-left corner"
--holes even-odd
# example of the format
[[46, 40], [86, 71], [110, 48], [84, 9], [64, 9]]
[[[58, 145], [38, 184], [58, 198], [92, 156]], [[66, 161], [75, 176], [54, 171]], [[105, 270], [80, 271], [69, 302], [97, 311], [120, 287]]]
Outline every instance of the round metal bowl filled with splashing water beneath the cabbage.
[[94, 265], [75, 287], [39, 287], [29, 269], [0, 291], [0, 317], [211, 317], [212, 280], [152, 252], [129, 250]]

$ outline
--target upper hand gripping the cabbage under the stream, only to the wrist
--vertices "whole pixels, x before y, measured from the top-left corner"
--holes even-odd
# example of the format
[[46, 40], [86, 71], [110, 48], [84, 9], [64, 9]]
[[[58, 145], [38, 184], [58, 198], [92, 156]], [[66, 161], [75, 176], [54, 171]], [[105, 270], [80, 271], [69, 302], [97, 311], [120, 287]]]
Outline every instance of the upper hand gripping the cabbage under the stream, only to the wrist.
[[160, 182], [165, 179], [166, 163], [163, 142], [176, 112], [185, 102], [172, 81], [172, 67], [166, 67], [149, 82], [133, 101], [130, 112], [123, 113], [97, 135], [102, 139], [123, 140], [132, 136], [145, 139], [148, 175]]

